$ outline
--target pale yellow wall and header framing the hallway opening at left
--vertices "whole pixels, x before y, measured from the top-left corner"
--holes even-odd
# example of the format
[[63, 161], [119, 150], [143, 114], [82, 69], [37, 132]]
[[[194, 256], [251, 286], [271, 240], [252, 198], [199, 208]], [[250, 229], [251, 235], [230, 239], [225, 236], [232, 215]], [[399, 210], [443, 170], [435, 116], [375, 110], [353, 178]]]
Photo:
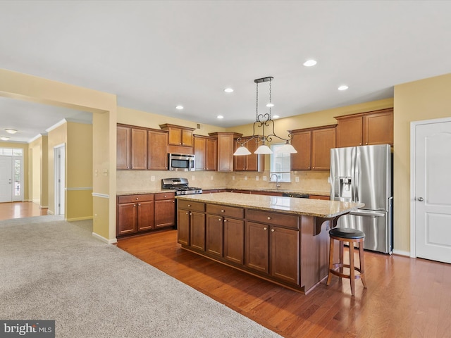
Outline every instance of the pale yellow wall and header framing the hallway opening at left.
[[[16, 73], [6, 69], [0, 69], [0, 95], [94, 113], [92, 125], [93, 144], [94, 146], [105, 144], [105, 146], [99, 150], [102, 156], [93, 156], [93, 168], [97, 168], [97, 170], [102, 172], [106, 170], [107, 175], [106, 180], [103, 177], [101, 180], [98, 177], [93, 177], [93, 199], [106, 200], [93, 204], [93, 232], [108, 242], [115, 242], [116, 95], [47, 80], [42, 77]], [[97, 115], [102, 118], [96, 118]], [[108, 141], [105, 142], [104, 140]], [[102, 207], [96, 210], [95, 208], [99, 204], [108, 204], [108, 208]]]

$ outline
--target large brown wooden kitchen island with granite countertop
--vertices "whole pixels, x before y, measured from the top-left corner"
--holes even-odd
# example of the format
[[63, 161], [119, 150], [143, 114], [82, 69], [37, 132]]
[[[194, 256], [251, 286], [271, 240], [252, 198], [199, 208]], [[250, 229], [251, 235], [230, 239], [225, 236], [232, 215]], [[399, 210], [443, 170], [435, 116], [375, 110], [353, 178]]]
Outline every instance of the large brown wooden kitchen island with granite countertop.
[[328, 273], [328, 227], [364, 204], [280, 196], [177, 196], [182, 248], [298, 292]]

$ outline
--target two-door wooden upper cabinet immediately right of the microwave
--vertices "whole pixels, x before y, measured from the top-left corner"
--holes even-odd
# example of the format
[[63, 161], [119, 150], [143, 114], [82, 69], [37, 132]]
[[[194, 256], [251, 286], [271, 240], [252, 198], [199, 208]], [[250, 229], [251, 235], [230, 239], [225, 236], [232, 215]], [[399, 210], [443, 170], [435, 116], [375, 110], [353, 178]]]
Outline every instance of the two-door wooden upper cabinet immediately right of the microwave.
[[218, 163], [218, 140], [214, 137], [194, 135], [196, 170], [216, 171]]

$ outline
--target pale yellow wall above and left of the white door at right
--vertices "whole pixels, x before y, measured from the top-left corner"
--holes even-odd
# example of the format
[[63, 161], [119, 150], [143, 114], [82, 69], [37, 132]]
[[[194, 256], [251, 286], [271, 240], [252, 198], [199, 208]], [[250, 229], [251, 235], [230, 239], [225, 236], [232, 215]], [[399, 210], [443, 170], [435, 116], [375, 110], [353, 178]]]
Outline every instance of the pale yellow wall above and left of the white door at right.
[[395, 86], [394, 239], [410, 250], [410, 123], [451, 116], [451, 74]]

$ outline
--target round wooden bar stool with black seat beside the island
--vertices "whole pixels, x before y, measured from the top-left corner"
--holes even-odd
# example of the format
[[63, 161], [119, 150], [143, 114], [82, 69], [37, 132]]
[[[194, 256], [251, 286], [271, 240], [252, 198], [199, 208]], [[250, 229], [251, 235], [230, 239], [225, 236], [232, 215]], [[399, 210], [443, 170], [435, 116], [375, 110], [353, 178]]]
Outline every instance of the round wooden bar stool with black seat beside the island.
[[[354, 280], [357, 278], [362, 280], [364, 284], [364, 288], [366, 289], [365, 282], [365, 266], [364, 266], [364, 232], [352, 229], [350, 227], [333, 227], [329, 230], [330, 236], [330, 248], [329, 248], [329, 273], [327, 277], [326, 285], [330, 284], [330, 280], [332, 279], [332, 275], [336, 275], [340, 277], [349, 278], [351, 281], [351, 294], [354, 296], [355, 287]], [[333, 263], [333, 251], [334, 251], [334, 243], [335, 240], [340, 242], [340, 263]], [[345, 246], [345, 242], [350, 244], [350, 263], [345, 264], [343, 261], [343, 249]], [[356, 268], [354, 265], [354, 243], [357, 243], [359, 250], [359, 261], [360, 267]], [[343, 273], [343, 268], [349, 268], [350, 274], [346, 275]], [[339, 270], [338, 270], [339, 269]], [[358, 271], [359, 274], [355, 274], [355, 271]]]

